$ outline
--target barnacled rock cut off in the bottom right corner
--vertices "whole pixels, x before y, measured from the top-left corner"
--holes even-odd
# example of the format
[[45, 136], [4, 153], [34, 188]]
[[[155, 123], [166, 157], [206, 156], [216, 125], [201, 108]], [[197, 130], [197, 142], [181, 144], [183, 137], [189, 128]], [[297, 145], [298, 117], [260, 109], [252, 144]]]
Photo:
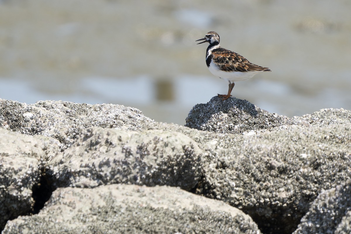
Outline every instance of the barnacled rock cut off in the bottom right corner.
[[294, 234], [351, 233], [351, 181], [322, 191]]

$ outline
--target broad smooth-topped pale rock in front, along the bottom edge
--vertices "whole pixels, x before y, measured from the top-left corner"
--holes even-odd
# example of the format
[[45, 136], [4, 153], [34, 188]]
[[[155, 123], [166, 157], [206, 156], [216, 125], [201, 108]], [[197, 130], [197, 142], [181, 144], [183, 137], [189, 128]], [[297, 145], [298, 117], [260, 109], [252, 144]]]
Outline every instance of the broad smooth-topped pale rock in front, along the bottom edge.
[[17, 233], [260, 234], [250, 218], [223, 202], [179, 188], [107, 185], [59, 188], [39, 214], [7, 223]]

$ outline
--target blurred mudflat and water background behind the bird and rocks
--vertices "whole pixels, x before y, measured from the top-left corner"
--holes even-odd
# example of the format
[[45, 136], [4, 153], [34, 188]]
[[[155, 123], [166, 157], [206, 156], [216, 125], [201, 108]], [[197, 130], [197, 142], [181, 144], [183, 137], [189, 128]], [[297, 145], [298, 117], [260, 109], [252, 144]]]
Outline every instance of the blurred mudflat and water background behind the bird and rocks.
[[205, 63], [209, 31], [272, 72], [232, 95], [292, 117], [351, 109], [350, 0], [0, 0], [0, 98], [113, 103], [185, 124], [226, 94]]

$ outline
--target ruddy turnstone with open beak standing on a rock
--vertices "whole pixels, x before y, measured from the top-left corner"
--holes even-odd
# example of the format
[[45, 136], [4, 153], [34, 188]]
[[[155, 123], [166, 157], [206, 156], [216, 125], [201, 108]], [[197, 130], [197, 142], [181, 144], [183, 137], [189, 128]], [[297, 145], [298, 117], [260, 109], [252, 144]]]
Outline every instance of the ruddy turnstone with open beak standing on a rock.
[[222, 100], [228, 99], [234, 87], [234, 81], [247, 80], [259, 72], [270, 72], [268, 67], [261, 67], [249, 62], [243, 56], [229, 51], [219, 45], [219, 35], [216, 32], [208, 32], [198, 44], [208, 42], [210, 45], [206, 51], [206, 64], [210, 72], [219, 78], [229, 82], [228, 94], [218, 94]]

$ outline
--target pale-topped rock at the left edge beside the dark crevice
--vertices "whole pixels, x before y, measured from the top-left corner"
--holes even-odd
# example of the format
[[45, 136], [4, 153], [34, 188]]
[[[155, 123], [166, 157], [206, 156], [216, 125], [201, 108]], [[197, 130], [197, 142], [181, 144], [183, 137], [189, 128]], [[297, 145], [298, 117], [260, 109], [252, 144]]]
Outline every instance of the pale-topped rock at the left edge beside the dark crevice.
[[0, 128], [0, 230], [7, 220], [34, 209], [33, 190], [45, 161], [59, 152], [59, 142]]

